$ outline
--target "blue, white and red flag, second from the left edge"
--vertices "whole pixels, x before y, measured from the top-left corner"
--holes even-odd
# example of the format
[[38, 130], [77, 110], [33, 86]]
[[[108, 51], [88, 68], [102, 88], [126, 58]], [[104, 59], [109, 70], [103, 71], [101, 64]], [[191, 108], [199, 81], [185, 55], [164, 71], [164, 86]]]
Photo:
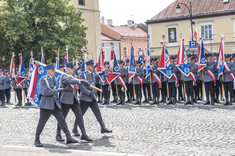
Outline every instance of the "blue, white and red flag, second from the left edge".
[[27, 78], [26, 76], [26, 70], [24, 68], [24, 62], [23, 62], [23, 57], [22, 57], [22, 54], [20, 53], [19, 54], [20, 56], [20, 64], [19, 64], [19, 75], [17, 77], [17, 82], [16, 82], [16, 85], [22, 89], [22, 86], [21, 86], [21, 83]]

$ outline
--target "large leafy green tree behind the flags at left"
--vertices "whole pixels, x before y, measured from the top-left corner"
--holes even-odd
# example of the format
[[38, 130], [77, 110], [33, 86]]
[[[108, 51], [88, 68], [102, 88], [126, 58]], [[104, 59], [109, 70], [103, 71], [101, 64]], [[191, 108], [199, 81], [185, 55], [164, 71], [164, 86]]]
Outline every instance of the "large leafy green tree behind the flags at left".
[[[86, 27], [81, 12], [70, 0], [8, 0], [0, 6], [0, 56], [10, 63], [12, 52], [23, 53], [28, 66], [30, 51], [40, 59], [44, 49], [46, 63], [63, 58], [66, 45], [69, 57], [80, 58], [86, 46]], [[18, 59], [16, 59], [18, 60]], [[62, 61], [60, 62], [62, 63]]]

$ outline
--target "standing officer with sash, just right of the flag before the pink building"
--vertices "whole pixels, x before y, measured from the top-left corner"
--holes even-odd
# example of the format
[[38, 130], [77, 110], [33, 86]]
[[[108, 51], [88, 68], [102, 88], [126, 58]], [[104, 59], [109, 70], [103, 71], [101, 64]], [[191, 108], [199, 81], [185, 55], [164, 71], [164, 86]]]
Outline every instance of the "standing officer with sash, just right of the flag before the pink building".
[[[135, 94], [136, 94], [136, 105], [141, 105], [142, 101], [142, 77], [143, 77], [143, 68], [141, 67], [141, 61], [137, 60], [136, 61], [136, 73], [134, 76], [134, 82], [133, 84], [135, 85]], [[142, 82], [141, 82], [142, 81]]]

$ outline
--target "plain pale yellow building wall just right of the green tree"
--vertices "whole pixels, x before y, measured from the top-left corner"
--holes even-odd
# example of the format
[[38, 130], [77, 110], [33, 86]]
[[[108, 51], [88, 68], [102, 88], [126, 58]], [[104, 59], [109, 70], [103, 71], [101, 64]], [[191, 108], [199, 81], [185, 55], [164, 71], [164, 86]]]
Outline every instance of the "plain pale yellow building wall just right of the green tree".
[[71, 0], [70, 3], [82, 11], [82, 18], [85, 20], [83, 24], [88, 28], [86, 31], [88, 58], [97, 60], [101, 47], [99, 0]]

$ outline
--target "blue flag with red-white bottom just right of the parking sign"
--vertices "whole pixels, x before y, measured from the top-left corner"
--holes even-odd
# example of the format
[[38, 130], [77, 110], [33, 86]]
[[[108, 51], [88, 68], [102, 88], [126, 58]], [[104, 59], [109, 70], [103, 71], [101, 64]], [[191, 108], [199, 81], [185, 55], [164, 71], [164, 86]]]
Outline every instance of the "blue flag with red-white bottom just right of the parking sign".
[[198, 46], [198, 72], [200, 72], [203, 68], [206, 67], [206, 57], [205, 57], [205, 51], [204, 51], [204, 43], [203, 39], [201, 39], [201, 43]]

